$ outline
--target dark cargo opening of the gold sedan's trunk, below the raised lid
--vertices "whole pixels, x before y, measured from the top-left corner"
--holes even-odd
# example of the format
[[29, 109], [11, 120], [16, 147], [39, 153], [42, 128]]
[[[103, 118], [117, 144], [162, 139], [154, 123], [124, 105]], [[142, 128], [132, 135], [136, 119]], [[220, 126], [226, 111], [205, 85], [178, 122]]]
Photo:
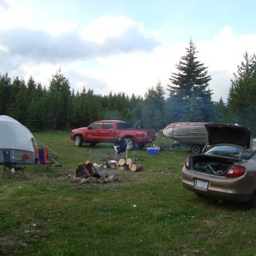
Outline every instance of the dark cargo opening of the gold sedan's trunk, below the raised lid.
[[194, 155], [190, 157], [190, 168], [193, 171], [206, 172], [212, 175], [225, 175], [234, 163], [239, 160], [229, 160], [207, 155]]

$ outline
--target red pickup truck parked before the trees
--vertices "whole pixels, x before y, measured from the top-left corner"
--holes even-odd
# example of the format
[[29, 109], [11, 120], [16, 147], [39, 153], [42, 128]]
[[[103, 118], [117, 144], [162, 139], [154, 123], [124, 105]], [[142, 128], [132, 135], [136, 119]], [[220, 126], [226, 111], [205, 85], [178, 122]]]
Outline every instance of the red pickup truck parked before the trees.
[[74, 129], [70, 136], [78, 147], [83, 143], [114, 143], [118, 136], [125, 137], [128, 149], [136, 146], [143, 148], [146, 143], [153, 143], [156, 138], [154, 129], [126, 129], [125, 122], [120, 120], [96, 121], [88, 127]]

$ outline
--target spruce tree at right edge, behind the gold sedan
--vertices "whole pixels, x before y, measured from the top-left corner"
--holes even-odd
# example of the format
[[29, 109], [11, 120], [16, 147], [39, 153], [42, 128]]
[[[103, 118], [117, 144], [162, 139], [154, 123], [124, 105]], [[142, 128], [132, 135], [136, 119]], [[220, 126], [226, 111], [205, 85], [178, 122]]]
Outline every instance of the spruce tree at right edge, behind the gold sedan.
[[256, 55], [244, 55], [238, 66], [228, 96], [228, 107], [236, 115], [236, 123], [256, 132]]

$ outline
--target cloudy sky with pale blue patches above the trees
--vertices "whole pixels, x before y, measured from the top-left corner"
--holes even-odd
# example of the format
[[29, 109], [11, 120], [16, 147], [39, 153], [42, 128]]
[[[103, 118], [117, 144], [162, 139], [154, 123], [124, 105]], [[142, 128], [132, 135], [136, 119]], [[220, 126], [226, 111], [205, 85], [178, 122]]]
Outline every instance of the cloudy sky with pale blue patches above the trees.
[[43, 86], [144, 96], [166, 89], [191, 39], [226, 101], [243, 55], [256, 54], [255, 0], [0, 0], [0, 74]]

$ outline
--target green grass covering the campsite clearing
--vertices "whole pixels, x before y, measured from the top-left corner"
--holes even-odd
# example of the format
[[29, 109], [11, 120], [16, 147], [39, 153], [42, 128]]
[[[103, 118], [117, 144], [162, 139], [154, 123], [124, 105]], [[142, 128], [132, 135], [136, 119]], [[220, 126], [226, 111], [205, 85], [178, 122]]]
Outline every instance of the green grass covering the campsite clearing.
[[144, 170], [107, 170], [120, 177], [104, 184], [113, 192], [56, 178], [74, 174], [87, 159], [101, 164], [102, 154], [113, 154], [111, 144], [77, 148], [66, 132], [34, 136], [61, 155], [61, 166], [48, 172], [26, 166], [26, 180], [0, 180], [0, 255], [256, 254], [255, 210], [183, 189], [189, 148], [130, 151]]

